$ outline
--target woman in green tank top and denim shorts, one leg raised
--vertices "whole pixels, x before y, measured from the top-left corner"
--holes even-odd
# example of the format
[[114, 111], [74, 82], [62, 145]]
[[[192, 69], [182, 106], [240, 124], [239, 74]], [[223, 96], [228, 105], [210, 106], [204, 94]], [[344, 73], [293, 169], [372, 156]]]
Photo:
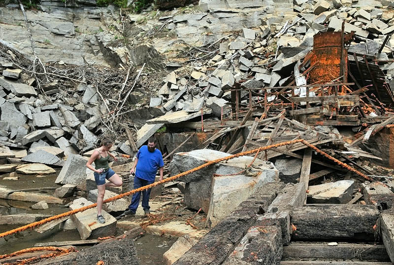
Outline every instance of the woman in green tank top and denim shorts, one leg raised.
[[[93, 174], [95, 175], [95, 181], [99, 193], [97, 196], [97, 221], [101, 224], [105, 223], [105, 218], [101, 215], [105, 187], [119, 187], [123, 184], [122, 179], [108, 165], [108, 159], [110, 156], [113, 157], [115, 161], [118, 160], [109, 152], [112, 145], [113, 143], [111, 140], [104, 138], [101, 141], [101, 146], [92, 153], [86, 163], [86, 167], [93, 170]], [[92, 166], [93, 162], [95, 162], [95, 167]], [[105, 183], [106, 179], [109, 182]]]

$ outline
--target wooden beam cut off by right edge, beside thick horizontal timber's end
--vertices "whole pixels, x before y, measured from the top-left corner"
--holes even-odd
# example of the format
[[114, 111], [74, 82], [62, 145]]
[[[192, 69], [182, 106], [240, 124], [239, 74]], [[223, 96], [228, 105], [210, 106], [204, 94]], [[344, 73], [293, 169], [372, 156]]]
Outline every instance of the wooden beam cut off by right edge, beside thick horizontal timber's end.
[[380, 219], [380, 234], [390, 260], [394, 263], [394, 214], [382, 213]]

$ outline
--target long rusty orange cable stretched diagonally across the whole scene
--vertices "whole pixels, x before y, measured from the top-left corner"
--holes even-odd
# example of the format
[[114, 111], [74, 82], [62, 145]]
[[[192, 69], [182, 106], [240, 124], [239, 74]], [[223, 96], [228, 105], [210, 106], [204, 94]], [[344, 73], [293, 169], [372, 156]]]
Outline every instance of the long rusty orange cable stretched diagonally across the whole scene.
[[[198, 170], [200, 170], [202, 168], [208, 167], [208, 166], [210, 166], [212, 164], [217, 164], [217, 163], [220, 163], [222, 161], [227, 161], [227, 160], [230, 160], [230, 159], [235, 158], [235, 157], [252, 154], [252, 153], [255, 153], [257, 151], [265, 151], [265, 150], [269, 150], [269, 149], [272, 149], [272, 148], [293, 145], [293, 144], [296, 144], [296, 143], [302, 143], [302, 144], [312, 148], [313, 150], [317, 151], [318, 153], [326, 156], [328, 159], [334, 161], [335, 163], [337, 163], [338, 165], [342, 166], [343, 168], [346, 168], [346, 169], [356, 173], [357, 175], [363, 177], [366, 180], [369, 180], [369, 181], [371, 180], [371, 178], [369, 178], [367, 175], [361, 173], [357, 169], [354, 169], [354, 168], [350, 167], [349, 165], [339, 161], [338, 159], [330, 156], [328, 153], [326, 153], [324, 151], [321, 151], [317, 147], [309, 144], [307, 141], [305, 141], [303, 139], [298, 139], [298, 140], [293, 140], [293, 141], [289, 141], [289, 142], [282, 142], [282, 143], [278, 143], [278, 144], [269, 145], [269, 146], [266, 146], [266, 147], [263, 147], [263, 148], [260, 147], [260, 148], [256, 148], [256, 149], [253, 149], [253, 150], [250, 150], [250, 151], [240, 152], [240, 153], [232, 154], [232, 155], [229, 155], [229, 156], [226, 156], [226, 157], [222, 157], [222, 158], [219, 158], [219, 159], [211, 160], [211, 161], [206, 162], [205, 164], [197, 166], [197, 167], [195, 167], [193, 169], [190, 169], [188, 171], [179, 173], [179, 174], [177, 174], [175, 176], [166, 178], [166, 179], [164, 179], [162, 181], [158, 181], [158, 182], [152, 183], [150, 185], [143, 186], [141, 188], [133, 189], [133, 190], [130, 190], [130, 191], [126, 192], [126, 193], [122, 193], [122, 194], [113, 196], [111, 198], [108, 198], [108, 199], [104, 200], [103, 203], [108, 203], [108, 202], [111, 202], [111, 201], [114, 201], [114, 200], [118, 200], [120, 198], [129, 196], [131, 194], [134, 194], [136, 192], [140, 192], [140, 191], [145, 190], [145, 189], [151, 189], [151, 188], [156, 187], [158, 185], [161, 185], [161, 184], [163, 184], [165, 182], [170, 182], [170, 181], [176, 180], [176, 179], [178, 179], [180, 177], [186, 176], [186, 175], [188, 175], [190, 173], [196, 172], [196, 171], [198, 171]], [[58, 220], [58, 219], [61, 219], [63, 217], [66, 217], [66, 216], [74, 215], [76, 213], [80, 213], [80, 212], [86, 211], [88, 209], [92, 209], [92, 208], [94, 208], [96, 206], [97, 206], [97, 203], [94, 203], [94, 204], [91, 204], [91, 205], [88, 205], [88, 206], [84, 206], [84, 207], [81, 207], [81, 208], [78, 208], [78, 209], [75, 209], [75, 210], [63, 213], [63, 214], [59, 214], [59, 215], [55, 215], [55, 216], [43, 219], [43, 220], [38, 221], [38, 222], [31, 223], [31, 224], [23, 226], [23, 227], [18, 227], [18, 228], [15, 228], [15, 229], [12, 229], [12, 230], [0, 233], [0, 238], [4, 237], [4, 236], [7, 236], [7, 235], [11, 235], [11, 234], [17, 233], [17, 232], [24, 231], [24, 230], [27, 230], [27, 229], [33, 229], [34, 227], [38, 227], [38, 226], [43, 225], [45, 223], [51, 222], [53, 220]]]

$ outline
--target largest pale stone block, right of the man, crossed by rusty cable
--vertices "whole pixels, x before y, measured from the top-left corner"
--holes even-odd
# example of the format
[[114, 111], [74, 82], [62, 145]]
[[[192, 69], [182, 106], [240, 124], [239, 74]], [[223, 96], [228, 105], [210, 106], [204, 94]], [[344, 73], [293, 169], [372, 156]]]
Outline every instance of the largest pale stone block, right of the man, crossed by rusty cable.
[[[230, 154], [214, 150], [195, 150], [176, 153], [169, 165], [171, 176], [185, 172], [210, 160]], [[208, 222], [214, 226], [255, 189], [267, 182], [278, 181], [279, 172], [272, 163], [256, 159], [253, 166], [245, 167], [253, 160], [251, 156], [210, 165], [179, 179], [186, 183], [184, 203], [190, 208], [202, 208], [208, 213]], [[215, 178], [213, 178], [215, 174]]]

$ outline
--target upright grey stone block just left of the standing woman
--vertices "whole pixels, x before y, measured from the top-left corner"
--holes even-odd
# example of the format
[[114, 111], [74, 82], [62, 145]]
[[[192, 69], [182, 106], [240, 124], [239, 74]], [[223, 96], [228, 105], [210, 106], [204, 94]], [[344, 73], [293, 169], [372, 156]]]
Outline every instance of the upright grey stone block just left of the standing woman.
[[81, 155], [68, 154], [65, 165], [60, 171], [56, 184], [72, 184], [78, 188], [85, 188], [86, 181], [86, 162]]

